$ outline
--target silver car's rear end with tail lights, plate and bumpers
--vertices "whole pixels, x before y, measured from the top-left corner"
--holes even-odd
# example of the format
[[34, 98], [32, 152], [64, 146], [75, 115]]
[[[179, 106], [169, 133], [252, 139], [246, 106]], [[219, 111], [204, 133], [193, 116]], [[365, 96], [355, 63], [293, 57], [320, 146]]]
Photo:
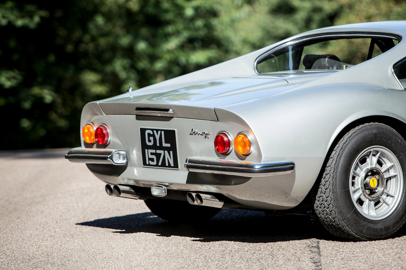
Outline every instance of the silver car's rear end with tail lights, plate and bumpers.
[[91, 102], [81, 126], [82, 146], [66, 158], [86, 163], [109, 195], [218, 208], [286, 209], [298, 203], [286, 196], [294, 164], [263, 162], [255, 134], [231, 111]]

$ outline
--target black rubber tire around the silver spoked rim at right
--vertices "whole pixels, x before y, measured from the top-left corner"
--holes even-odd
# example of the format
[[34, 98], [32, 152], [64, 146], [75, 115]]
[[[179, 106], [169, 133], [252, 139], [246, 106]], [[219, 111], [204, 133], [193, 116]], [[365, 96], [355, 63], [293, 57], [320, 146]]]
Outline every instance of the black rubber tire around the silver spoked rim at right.
[[[399, 180], [397, 180], [397, 183], [403, 183], [399, 184], [403, 185], [403, 187], [399, 186], [398, 188], [397, 194], [399, 194], [399, 197], [396, 198], [399, 199], [396, 199], [398, 200], [397, 206], [393, 206], [394, 210], [391, 210], [393, 212], [388, 212], [388, 214], [391, 213], [388, 217], [379, 220], [372, 220], [365, 217], [365, 213], [362, 214], [357, 209], [355, 205], [357, 201], [354, 203], [354, 197], [352, 197], [353, 193], [350, 191], [352, 165], [365, 149], [372, 146], [389, 149], [399, 162], [398, 164], [400, 164], [401, 169], [400, 175], [403, 176], [403, 180], [402, 178], [398, 178]], [[317, 193], [313, 199], [315, 213], [328, 232], [340, 238], [379, 240], [393, 236], [393, 234], [400, 230], [406, 220], [405, 153], [406, 142], [404, 138], [393, 130], [393, 128], [381, 123], [359, 125], [341, 138], [324, 168], [324, 174], [320, 179], [320, 186], [315, 185], [317, 189], [315, 192]], [[376, 159], [378, 159], [378, 157], [376, 157]], [[375, 164], [375, 167], [376, 166], [378, 165]], [[362, 176], [359, 177], [360, 181], [364, 181]], [[383, 179], [385, 179], [382, 183], [384, 188], [387, 185], [387, 182], [385, 182], [387, 181], [386, 177], [387, 176], [383, 177]], [[389, 177], [388, 181], [390, 181], [390, 179], [391, 177]], [[369, 190], [365, 191], [365, 187], [362, 188], [363, 189], [360, 189], [361, 191], [368, 192], [367, 194], [369, 194]], [[379, 207], [379, 202], [377, 202], [378, 206], [375, 206], [373, 200], [371, 200], [371, 202], [367, 202], [365, 206], [367, 206], [368, 203], [372, 204], [371, 207]], [[367, 215], [368, 213], [369, 211], [367, 210]]]

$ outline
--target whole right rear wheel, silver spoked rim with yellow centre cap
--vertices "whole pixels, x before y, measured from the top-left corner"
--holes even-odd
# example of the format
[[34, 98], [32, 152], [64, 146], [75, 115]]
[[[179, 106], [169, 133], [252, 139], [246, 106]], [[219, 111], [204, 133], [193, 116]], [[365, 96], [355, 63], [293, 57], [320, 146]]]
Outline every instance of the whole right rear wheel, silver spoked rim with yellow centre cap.
[[381, 123], [350, 130], [336, 145], [315, 196], [314, 209], [335, 236], [376, 240], [406, 219], [406, 142]]

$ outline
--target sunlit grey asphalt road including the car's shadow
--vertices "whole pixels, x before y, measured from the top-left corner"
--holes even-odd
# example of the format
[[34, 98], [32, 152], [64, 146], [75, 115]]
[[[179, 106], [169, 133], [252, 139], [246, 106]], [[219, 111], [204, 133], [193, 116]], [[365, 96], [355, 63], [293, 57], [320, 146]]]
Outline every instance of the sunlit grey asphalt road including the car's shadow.
[[66, 152], [0, 151], [1, 269], [406, 269], [405, 229], [351, 242], [309, 217], [236, 209], [172, 224], [142, 200], [108, 196]]

